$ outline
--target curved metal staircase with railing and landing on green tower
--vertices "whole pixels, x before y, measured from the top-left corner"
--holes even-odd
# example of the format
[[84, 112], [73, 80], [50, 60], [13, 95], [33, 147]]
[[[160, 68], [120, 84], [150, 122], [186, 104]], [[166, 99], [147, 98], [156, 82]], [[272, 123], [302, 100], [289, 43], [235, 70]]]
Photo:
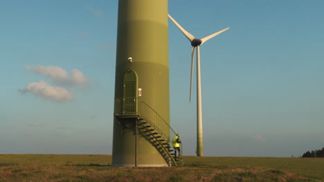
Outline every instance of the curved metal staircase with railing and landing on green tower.
[[[163, 156], [169, 166], [176, 166], [181, 159], [176, 158], [176, 151], [172, 139], [176, 132], [150, 105], [143, 101], [138, 102], [135, 97], [115, 99], [114, 115], [118, 118], [134, 118], [137, 123], [138, 134], [149, 141]], [[180, 143], [182, 156], [182, 143]]]

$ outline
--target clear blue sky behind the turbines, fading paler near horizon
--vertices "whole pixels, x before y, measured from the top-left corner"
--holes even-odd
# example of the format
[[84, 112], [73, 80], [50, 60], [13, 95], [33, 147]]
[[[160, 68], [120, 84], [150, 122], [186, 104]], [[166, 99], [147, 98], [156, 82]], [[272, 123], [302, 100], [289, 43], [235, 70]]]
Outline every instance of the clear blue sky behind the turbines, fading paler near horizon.
[[[324, 146], [323, 8], [169, 1], [197, 38], [231, 28], [201, 45], [206, 156], [300, 156]], [[117, 10], [115, 0], [1, 1], [0, 153], [111, 154]], [[171, 21], [169, 30], [171, 125], [183, 154], [195, 155], [190, 42]]]

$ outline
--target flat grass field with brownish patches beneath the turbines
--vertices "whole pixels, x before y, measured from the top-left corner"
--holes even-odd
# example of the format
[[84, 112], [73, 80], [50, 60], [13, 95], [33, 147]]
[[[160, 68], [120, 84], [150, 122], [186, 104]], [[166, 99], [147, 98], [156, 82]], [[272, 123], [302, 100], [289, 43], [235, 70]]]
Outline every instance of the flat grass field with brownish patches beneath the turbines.
[[183, 156], [172, 168], [113, 168], [109, 155], [0, 155], [0, 181], [324, 181], [324, 159]]

